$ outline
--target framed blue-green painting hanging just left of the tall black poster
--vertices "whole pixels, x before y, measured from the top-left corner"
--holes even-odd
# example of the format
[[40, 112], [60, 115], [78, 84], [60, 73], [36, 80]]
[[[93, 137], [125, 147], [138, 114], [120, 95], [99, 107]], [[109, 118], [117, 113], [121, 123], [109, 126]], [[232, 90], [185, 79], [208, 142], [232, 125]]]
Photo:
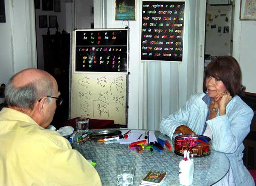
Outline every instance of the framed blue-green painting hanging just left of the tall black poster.
[[136, 0], [115, 0], [115, 20], [136, 20]]

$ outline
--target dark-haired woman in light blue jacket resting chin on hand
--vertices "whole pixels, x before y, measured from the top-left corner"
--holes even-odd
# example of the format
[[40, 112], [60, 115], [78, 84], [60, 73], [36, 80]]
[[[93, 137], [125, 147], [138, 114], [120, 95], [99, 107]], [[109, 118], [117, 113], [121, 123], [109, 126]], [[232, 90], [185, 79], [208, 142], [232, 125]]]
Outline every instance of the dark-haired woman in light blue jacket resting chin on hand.
[[182, 134], [212, 138], [212, 149], [230, 160], [227, 175], [216, 186], [254, 186], [243, 163], [243, 140], [250, 132], [253, 110], [238, 96], [241, 69], [236, 59], [220, 56], [205, 69], [204, 93], [194, 94], [177, 112], [163, 117], [160, 132], [171, 139]]

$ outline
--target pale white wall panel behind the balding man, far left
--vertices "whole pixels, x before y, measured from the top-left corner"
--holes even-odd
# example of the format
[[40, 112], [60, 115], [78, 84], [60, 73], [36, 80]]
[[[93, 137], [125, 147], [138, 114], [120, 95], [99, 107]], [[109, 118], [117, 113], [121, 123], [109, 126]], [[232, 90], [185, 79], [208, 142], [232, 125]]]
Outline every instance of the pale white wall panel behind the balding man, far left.
[[5, 0], [6, 23], [0, 23], [0, 83], [16, 72], [36, 68], [34, 1]]

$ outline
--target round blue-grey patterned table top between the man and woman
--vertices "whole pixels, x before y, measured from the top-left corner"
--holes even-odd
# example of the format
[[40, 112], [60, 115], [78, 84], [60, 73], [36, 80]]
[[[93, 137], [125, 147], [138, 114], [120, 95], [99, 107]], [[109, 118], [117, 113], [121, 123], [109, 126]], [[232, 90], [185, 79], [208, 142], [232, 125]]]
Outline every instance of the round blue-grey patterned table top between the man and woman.
[[[99, 130], [89, 130], [89, 133]], [[71, 145], [87, 160], [96, 163], [95, 169], [101, 177], [103, 186], [116, 185], [116, 168], [122, 164], [132, 164], [136, 167], [134, 186], [138, 186], [150, 170], [167, 172], [167, 179], [161, 186], [180, 186], [178, 169], [179, 162], [183, 157], [174, 153], [174, 140], [170, 140], [168, 136], [159, 131], [155, 131], [155, 136], [169, 140], [172, 150], [169, 151], [164, 147], [162, 153], [154, 151], [152, 154], [149, 149], [138, 153], [136, 150], [131, 150], [128, 144], [111, 141], [99, 143], [96, 140], [89, 140], [84, 144], [72, 143]], [[195, 165], [192, 186], [211, 186], [224, 177], [230, 168], [229, 160], [222, 152], [212, 150], [209, 156], [191, 159]]]

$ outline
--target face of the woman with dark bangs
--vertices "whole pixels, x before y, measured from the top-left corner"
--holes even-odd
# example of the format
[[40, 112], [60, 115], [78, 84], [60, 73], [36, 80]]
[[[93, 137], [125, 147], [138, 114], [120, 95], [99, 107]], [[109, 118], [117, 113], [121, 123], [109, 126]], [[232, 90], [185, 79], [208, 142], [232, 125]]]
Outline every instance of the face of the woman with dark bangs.
[[227, 92], [227, 88], [224, 83], [212, 76], [207, 76], [205, 85], [209, 94], [209, 97], [216, 97], [218, 94]]

